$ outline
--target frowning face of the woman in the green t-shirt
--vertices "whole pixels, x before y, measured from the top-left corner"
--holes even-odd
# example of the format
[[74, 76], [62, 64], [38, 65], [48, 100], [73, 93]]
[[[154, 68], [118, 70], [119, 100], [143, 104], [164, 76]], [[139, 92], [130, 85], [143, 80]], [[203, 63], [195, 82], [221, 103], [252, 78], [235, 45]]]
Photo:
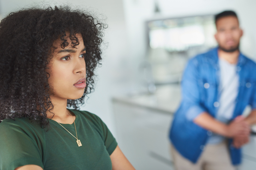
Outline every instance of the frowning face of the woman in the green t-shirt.
[[[69, 37], [69, 35], [67, 35]], [[50, 94], [59, 99], [79, 99], [82, 97], [86, 87], [86, 65], [85, 65], [85, 45], [81, 34], [76, 34], [79, 45], [73, 48], [71, 40], [69, 45], [61, 48], [61, 40], [56, 40], [53, 46], [52, 59], [48, 65], [50, 77], [48, 83], [51, 87]], [[78, 82], [82, 82], [77, 84]], [[52, 95], [51, 95], [52, 96]]]

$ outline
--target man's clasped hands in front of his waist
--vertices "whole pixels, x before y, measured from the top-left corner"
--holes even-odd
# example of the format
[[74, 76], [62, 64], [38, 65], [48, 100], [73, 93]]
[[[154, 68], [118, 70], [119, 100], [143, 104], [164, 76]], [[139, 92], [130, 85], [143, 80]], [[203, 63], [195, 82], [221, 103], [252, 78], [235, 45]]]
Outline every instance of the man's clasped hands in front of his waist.
[[[236, 117], [226, 128], [226, 137], [238, 139], [248, 138], [250, 135], [250, 125], [245, 121], [243, 116]], [[242, 142], [239, 140], [240, 142]]]

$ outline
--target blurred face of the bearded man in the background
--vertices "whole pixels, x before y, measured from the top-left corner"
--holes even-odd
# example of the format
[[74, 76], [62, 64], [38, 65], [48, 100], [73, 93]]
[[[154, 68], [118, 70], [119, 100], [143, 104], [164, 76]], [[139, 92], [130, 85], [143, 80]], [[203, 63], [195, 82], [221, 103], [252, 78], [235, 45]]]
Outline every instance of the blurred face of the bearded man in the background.
[[234, 16], [227, 16], [217, 20], [217, 40], [221, 50], [226, 52], [234, 52], [239, 48], [240, 38], [243, 31], [239, 27], [238, 19]]

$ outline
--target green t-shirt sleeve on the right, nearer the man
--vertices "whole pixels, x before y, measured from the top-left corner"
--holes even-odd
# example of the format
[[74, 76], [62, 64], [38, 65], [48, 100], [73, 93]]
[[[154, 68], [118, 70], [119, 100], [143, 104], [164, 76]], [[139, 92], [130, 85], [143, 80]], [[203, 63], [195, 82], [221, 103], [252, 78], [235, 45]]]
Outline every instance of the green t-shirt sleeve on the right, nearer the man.
[[102, 137], [109, 155], [111, 155], [117, 147], [117, 142], [106, 124], [97, 116], [94, 115], [98, 122], [99, 128], [102, 130]]

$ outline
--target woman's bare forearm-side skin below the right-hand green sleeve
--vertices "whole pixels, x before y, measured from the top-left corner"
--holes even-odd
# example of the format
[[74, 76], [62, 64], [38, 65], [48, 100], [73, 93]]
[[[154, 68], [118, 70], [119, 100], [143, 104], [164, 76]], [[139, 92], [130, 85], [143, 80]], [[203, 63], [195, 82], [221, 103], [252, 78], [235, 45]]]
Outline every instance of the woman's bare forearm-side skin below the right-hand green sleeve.
[[123, 152], [116, 147], [114, 152], [110, 155], [112, 162], [112, 170], [135, 170], [129, 160], [123, 155]]

